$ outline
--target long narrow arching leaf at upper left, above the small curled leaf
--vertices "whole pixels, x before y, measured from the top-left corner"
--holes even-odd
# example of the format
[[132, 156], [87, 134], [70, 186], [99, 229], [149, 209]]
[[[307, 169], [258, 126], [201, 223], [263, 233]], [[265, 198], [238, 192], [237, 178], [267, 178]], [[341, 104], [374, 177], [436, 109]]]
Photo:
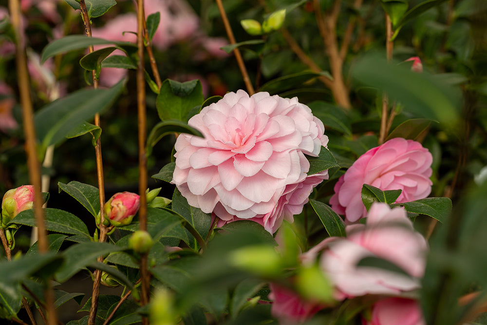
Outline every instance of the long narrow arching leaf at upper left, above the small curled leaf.
[[[103, 38], [87, 37], [84, 35], [68, 35], [63, 38], [58, 38], [44, 47], [41, 53], [41, 63], [43, 63], [49, 57], [54, 57], [58, 54], [86, 49], [90, 45], [105, 44], [116, 44], [125, 49], [125, 51], [131, 53], [137, 49], [135, 44], [129, 42], [117, 42]], [[131, 48], [131, 50], [128, 50], [129, 48]]]

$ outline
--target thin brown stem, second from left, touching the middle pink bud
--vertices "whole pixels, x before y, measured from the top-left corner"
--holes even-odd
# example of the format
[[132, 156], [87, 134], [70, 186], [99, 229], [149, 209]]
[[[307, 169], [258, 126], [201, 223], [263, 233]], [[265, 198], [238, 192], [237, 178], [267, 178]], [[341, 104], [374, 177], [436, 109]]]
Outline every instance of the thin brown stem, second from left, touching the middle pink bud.
[[[90, 17], [88, 16], [88, 11], [86, 10], [86, 3], [85, 0], [79, 1], [79, 7], [81, 9], [81, 16], [83, 18], [85, 34], [88, 37], [92, 37], [91, 33], [91, 25], [90, 25]], [[88, 47], [90, 53], [94, 51], [93, 45]], [[96, 72], [92, 71], [93, 76], [93, 88], [98, 88], [98, 79], [96, 78]], [[94, 124], [97, 127], [100, 127], [100, 115], [98, 113], [94, 116]], [[96, 173], [97, 173], [97, 180], [98, 180], [98, 193], [100, 199], [100, 224], [98, 227], [100, 228], [100, 237], [99, 241], [104, 242], [107, 238], [107, 228], [103, 225], [105, 221], [105, 211], [103, 210], [103, 206], [105, 205], [105, 182], [103, 179], [103, 160], [101, 156], [101, 139], [96, 139], [95, 142], [95, 157], [96, 157]], [[98, 261], [102, 262], [103, 257], [98, 257]], [[100, 283], [101, 283], [101, 271], [95, 270], [94, 271], [94, 281], [93, 281], [93, 292], [92, 292], [92, 304], [90, 306], [90, 316], [88, 319], [89, 325], [94, 325], [96, 319], [96, 311], [98, 310], [98, 296], [100, 294]]]

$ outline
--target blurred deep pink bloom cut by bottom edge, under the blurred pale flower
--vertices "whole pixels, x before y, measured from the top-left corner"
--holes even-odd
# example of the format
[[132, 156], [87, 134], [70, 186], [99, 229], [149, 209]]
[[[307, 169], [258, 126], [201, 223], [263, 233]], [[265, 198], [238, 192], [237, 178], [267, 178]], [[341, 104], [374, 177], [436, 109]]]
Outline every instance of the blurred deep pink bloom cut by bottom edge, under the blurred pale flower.
[[421, 306], [416, 300], [387, 298], [372, 307], [372, 319], [366, 325], [426, 325]]

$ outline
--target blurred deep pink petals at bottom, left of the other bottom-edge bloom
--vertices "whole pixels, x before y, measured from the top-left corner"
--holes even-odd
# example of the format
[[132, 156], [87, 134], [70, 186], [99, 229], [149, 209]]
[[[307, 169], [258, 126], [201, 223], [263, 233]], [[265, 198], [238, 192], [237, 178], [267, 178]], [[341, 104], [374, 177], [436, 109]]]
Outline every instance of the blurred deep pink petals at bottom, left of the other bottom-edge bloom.
[[272, 300], [272, 316], [279, 319], [281, 325], [304, 323], [325, 306], [309, 302], [288, 288], [270, 283], [269, 299]]

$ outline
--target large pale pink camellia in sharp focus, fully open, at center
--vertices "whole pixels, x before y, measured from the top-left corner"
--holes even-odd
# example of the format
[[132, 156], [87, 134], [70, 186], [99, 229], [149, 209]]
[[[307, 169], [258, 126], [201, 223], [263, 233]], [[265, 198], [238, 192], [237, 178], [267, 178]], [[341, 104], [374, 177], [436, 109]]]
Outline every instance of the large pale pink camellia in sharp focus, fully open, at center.
[[175, 144], [176, 184], [188, 203], [222, 223], [256, 221], [274, 233], [293, 221], [328, 171], [307, 175], [305, 154], [326, 146], [323, 123], [297, 98], [227, 93], [188, 124], [205, 138], [181, 134]]

